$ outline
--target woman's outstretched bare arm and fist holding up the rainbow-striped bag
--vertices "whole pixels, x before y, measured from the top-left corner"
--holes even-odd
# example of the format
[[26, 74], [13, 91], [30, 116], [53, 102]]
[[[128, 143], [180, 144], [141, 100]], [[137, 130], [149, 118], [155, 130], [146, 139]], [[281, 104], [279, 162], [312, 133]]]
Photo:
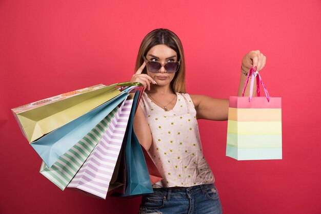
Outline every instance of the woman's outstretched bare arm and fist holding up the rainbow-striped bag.
[[[250, 51], [242, 59], [242, 69], [249, 72], [250, 68], [256, 66], [256, 71], [265, 67], [266, 57], [260, 51]], [[242, 96], [246, 75], [240, 74], [238, 85], [238, 96]], [[256, 87], [256, 84], [254, 84]], [[245, 96], [249, 95], [249, 88], [245, 91]], [[229, 99], [215, 99], [204, 95], [190, 95], [196, 109], [197, 119], [227, 120], [229, 110]], [[256, 88], [253, 89], [253, 96], [256, 96]]]

